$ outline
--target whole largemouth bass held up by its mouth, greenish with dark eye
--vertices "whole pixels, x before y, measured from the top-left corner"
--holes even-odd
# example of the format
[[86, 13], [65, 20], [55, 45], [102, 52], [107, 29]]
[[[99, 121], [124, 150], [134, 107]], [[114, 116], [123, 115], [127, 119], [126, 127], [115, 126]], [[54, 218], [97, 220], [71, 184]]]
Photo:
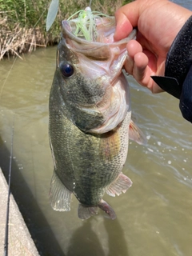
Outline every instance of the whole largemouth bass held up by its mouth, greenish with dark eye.
[[[82, 14], [82, 18], [88, 14]], [[79, 218], [90, 218], [99, 207], [114, 219], [114, 210], [102, 198], [105, 193], [125, 193], [132, 185], [122, 174], [130, 125], [134, 127], [131, 137], [139, 138], [130, 119], [129, 85], [122, 74], [126, 44], [136, 32], [114, 42], [114, 17], [93, 19], [94, 28], [87, 34], [81, 30], [78, 18], [62, 21], [50, 90], [49, 131], [54, 161], [50, 204], [54, 210], [69, 211], [74, 194], [79, 201]]]

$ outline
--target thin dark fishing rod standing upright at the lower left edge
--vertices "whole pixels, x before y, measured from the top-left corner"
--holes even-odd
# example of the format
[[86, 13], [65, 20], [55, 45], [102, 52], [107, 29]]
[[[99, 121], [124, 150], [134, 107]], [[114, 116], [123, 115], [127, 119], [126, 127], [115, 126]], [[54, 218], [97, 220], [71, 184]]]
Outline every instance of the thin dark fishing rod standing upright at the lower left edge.
[[9, 180], [8, 180], [8, 197], [7, 197], [7, 204], [6, 204], [6, 230], [5, 230], [5, 242], [4, 242], [4, 256], [8, 255], [9, 216], [10, 216], [10, 178], [11, 178], [11, 170], [12, 170], [13, 147], [14, 147], [14, 117], [13, 117], [11, 147], [10, 147], [10, 170], [9, 170]]

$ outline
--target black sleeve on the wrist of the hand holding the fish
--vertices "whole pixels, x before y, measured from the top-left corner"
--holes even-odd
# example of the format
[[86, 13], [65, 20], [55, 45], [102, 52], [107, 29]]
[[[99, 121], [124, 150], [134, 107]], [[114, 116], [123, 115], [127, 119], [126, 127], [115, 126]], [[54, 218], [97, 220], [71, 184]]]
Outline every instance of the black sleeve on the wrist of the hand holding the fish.
[[183, 118], [192, 122], [192, 16], [186, 21], [170, 46], [165, 76], [152, 76], [167, 93], [180, 99]]

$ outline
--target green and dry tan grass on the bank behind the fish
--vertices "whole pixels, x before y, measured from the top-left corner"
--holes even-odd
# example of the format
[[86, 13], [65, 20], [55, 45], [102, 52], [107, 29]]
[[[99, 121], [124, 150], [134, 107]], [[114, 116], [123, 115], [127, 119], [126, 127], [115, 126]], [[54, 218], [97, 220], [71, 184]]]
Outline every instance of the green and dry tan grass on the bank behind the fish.
[[[0, 60], [3, 56], [19, 55], [37, 46], [58, 43], [60, 23], [77, 10], [89, 6], [90, 0], [60, 0], [58, 16], [46, 33], [46, 15], [51, 0], [0, 0]], [[123, 0], [92, 0], [91, 9], [114, 15]]]

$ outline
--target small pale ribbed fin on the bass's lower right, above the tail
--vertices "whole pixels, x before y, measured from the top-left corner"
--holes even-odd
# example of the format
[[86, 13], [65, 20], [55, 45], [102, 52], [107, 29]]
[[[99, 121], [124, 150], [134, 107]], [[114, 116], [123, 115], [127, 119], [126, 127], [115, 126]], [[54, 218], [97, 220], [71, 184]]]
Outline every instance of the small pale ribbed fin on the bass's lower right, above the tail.
[[131, 182], [130, 178], [121, 173], [119, 174], [118, 178], [112, 184], [110, 184], [106, 190], [106, 193], [112, 197], [114, 197], [115, 194], [120, 195], [122, 192], [126, 193], [126, 190], [128, 190], [132, 184], [133, 182]]

